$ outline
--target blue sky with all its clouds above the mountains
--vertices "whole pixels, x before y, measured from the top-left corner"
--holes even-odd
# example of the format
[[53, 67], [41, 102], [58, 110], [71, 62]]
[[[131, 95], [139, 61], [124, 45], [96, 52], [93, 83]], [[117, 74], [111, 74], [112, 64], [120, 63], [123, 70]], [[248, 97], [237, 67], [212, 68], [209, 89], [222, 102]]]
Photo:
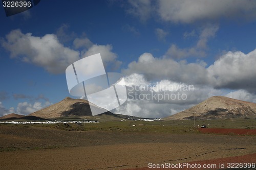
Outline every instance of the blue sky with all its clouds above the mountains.
[[0, 19], [0, 115], [70, 96], [65, 69], [96, 53], [127, 86], [195, 87], [175, 91], [186, 100], [131, 95], [117, 113], [164, 117], [212, 95], [256, 102], [254, 1], [41, 0], [10, 17], [2, 8]]

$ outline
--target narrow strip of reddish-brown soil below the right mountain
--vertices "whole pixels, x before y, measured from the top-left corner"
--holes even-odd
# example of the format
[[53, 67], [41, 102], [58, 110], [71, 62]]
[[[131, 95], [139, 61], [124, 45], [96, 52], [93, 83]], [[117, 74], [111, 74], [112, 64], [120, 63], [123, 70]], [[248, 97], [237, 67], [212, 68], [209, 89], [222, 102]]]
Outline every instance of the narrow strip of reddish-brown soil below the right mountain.
[[199, 128], [203, 133], [215, 133], [224, 135], [256, 135], [256, 129], [222, 129], [222, 128]]

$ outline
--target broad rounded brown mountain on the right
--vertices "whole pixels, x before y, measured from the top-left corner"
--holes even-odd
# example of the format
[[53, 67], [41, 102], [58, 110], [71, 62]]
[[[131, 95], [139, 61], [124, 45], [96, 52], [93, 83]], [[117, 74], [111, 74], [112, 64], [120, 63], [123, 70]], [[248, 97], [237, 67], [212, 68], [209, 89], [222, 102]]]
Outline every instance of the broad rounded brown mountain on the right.
[[256, 115], [255, 103], [212, 96], [196, 106], [166, 117], [165, 120], [194, 119], [194, 116], [196, 119], [253, 118], [253, 115]]

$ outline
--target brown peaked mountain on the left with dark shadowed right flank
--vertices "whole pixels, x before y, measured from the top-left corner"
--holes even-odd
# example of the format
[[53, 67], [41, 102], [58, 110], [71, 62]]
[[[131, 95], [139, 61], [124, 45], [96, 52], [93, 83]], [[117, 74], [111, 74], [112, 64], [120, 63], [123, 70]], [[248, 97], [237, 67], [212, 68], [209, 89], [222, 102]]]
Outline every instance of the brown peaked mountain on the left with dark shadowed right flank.
[[[109, 115], [113, 117], [118, 117], [115, 114], [109, 112], [108, 110], [100, 108], [96, 105], [94, 105], [93, 107], [96, 107], [97, 109], [102, 110], [102, 113], [104, 113], [103, 114], [104, 116]], [[59, 117], [87, 118], [87, 117], [92, 117], [92, 112], [90, 109], [89, 102], [87, 100], [65, 98], [59, 103], [56, 103], [47, 108], [38, 110], [34, 113], [31, 113], [30, 115], [41, 117], [41, 118], [48, 118], [48, 119], [59, 118]], [[101, 114], [101, 117], [103, 115]]]

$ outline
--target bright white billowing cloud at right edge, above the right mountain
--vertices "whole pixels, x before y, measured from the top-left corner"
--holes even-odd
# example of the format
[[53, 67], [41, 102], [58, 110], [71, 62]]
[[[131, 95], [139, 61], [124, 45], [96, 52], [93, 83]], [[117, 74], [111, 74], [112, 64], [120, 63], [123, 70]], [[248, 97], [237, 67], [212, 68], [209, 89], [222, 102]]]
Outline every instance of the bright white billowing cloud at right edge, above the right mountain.
[[256, 50], [244, 54], [228, 52], [210, 65], [208, 77], [216, 88], [246, 89], [254, 92], [256, 87]]

